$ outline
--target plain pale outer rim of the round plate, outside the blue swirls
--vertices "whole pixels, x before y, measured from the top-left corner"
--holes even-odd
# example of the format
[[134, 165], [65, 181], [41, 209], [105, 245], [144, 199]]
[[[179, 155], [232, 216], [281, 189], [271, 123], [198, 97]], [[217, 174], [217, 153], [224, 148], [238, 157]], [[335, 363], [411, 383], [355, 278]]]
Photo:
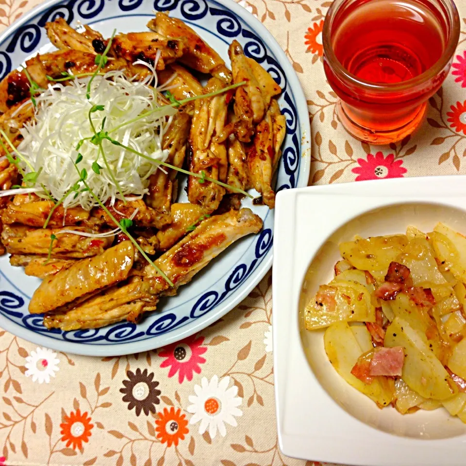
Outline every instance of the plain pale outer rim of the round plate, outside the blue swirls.
[[[105, 0], [106, 1], [106, 0]], [[208, 2], [209, 0], [207, 0]], [[44, 3], [40, 3], [35, 6], [33, 9], [25, 13], [23, 16], [14, 21], [3, 33], [0, 34], [0, 43], [3, 42], [8, 36], [14, 33], [19, 27], [27, 23], [31, 17], [34, 17], [39, 12], [45, 12], [50, 7], [63, 3], [63, 0], [47, 0]], [[284, 74], [287, 79], [289, 88], [292, 90], [295, 101], [296, 101], [296, 110], [298, 116], [298, 122], [301, 132], [301, 141], [300, 143], [300, 176], [296, 183], [296, 188], [308, 186], [309, 173], [310, 173], [310, 164], [311, 164], [311, 124], [309, 120], [309, 112], [307, 110], [306, 98], [304, 91], [302, 89], [300, 80], [296, 71], [293, 69], [291, 63], [285, 55], [285, 52], [273, 37], [273, 35], [267, 30], [267, 28], [259, 21], [257, 17], [252, 15], [244, 7], [236, 3], [234, 0], [221, 0], [221, 4], [234, 15], [240, 17], [244, 22], [246, 22], [251, 28], [259, 34], [261, 40], [266, 42], [267, 47], [274, 53], [278, 62], [283, 67]], [[102, 19], [104, 20], [104, 19]], [[86, 23], [87, 24], [87, 23]], [[293, 189], [296, 189], [293, 188]], [[275, 228], [273, 229], [273, 235], [275, 235]], [[45, 339], [40, 333], [35, 333], [28, 329], [23, 329], [18, 326], [16, 323], [11, 322], [4, 316], [0, 314], [0, 324], [1, 327], [10, 332], [19, 338], [23, 338], [26, 341], [29, 341], [33, 344], [51, 348], [58, 351], [66, 351], [71, 354], [79, 354], [83, 356], [121, 356], [125, 354], [132, 354], [136, 352], [149, 351], [157, 348], [163, 348], [171, 343], [180, 341], [188, 336], [191, 336], [195, 333], [198, 333], [205, 328], [209, 327], [219, 318], [225, 316], [228, 312], [233, 310], [241, 301], [243, 301], [253, 290], [253, 288], [264, 278], [266, 273], [272, 267], [273, 260], [273, 247], [267, 251], [266, 257], [261, 261], [261, 264], [255, 270], [253, 275], [239, 288], [238, 295], [231, 300], [226, 301], [221, 305], [216, 311], [206, 314], [205, 318], [199, 321], [196, 319], [193, 322], [190, 322], [179, 329], [178, 332], [175, 331], [175, 334], [170, 335], [170, 333], [164, 334], [164, 343], [163, 345], [154, 345], [154, 339], [162, 337], [162, 335], [154, 336], [153, 338], [148, 338], [143, 341], [135, 342], [121, 342], [116, 345], [86, 345], [79, 342], [69, 342], [64, 340], [54, 340], [54, 339]], [[19, 330], [19, 331], [18, 331]], [[23, 335], [23, 331], [26, 335]]]

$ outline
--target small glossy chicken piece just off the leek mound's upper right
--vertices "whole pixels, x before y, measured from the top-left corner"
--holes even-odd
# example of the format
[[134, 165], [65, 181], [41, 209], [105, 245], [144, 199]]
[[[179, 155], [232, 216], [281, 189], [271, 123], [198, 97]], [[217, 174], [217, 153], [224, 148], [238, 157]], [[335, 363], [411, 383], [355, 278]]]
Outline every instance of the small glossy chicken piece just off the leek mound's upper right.
[[[186, 68], [177, 63], [168, 65], [165, 69], [159, 71], [157, 76], [159, 79], [158, 85], [164, 86], [166, 84], [177, 100], [200, 96], [203, 92], [200, 82]], [[188, 102], [182, 108], [192, 116], [194, 102]]]

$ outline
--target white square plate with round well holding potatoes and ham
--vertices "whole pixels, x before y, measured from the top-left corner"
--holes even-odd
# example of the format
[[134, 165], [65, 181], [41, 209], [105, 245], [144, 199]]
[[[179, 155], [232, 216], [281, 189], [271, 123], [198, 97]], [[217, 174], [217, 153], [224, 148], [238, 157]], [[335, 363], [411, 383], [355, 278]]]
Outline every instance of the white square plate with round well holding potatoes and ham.
[[323, 331], [300, 330], [299, 310], [333, 277], [338, 243], [432, 231], [466, 233], [466, 176], [313, 186], [278, 194], [273, 252], [273, 351], [280, 448], [303, 459], [365, 466], [463, 466], [466, 425], [443, 408], [402, 416], [347, 384]]

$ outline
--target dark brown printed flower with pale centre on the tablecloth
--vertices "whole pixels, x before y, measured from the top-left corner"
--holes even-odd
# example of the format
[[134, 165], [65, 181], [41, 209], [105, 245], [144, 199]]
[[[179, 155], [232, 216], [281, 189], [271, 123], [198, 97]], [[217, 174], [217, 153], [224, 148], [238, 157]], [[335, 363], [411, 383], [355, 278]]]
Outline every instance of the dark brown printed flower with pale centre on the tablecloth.
[[149, 412], [155, 413], [155, 405], [160, 403], [161, 391], [156, 388], [159, 383], [152, 382], [154, 373], [148, 374], [147, 369], [141, 372], [141, 369], [137, 368], [136, 373], [129, 370], [126, 375], [128, 380], [123, 381], [124, 388], [120, 388], [120, 392], [125, 394], [123, 401], [128, 403], [128, 409], [136, 408], [136, 416], [139, 416], [142, 410], [146, 416], [149, 416]]

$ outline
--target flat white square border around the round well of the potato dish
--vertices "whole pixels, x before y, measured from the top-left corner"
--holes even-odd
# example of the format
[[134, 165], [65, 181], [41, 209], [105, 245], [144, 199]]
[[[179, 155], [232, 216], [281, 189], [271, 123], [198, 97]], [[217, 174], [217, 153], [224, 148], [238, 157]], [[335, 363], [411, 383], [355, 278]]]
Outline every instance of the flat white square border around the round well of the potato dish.
[[[272, 326], [277, 427], [284, 454], [362, 466], [464, 464], [465, 435], [437, 440], [401, 437], [372, 428], [342, 409], [317, 381], [305, 357], [298, 300], [302, 278], [317, 250], [351, 218], [410, 202], [444, 204], [466, 212], [465, 183], [463, 175], [419, 177], [314, 186], [277, 196]], [[301, 211], [297, 207], [300, 196], [307, 198], [312, 212], [306, 232], [294, 231], [296, 217], [302, 215], [302, 202]], [[336, 209], [340, 196], [345, 196], [344, 208]]]

